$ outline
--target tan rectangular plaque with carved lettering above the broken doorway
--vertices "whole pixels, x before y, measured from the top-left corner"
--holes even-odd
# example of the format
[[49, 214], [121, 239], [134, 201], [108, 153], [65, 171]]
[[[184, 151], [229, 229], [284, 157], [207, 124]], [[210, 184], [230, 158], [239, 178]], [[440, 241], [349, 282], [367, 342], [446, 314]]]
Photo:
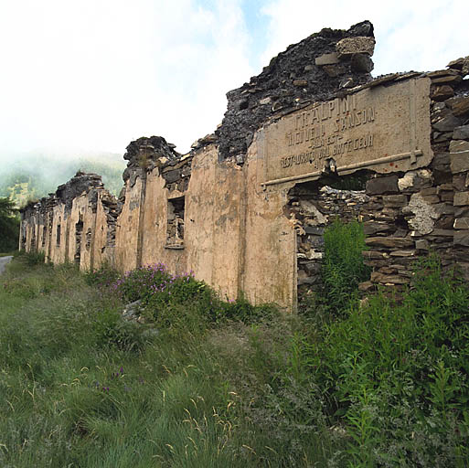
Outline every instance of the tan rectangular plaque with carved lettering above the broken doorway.
[[346, 175], [428, 165], [430, 80], [378, 86], [343, 99], [316, 102], [263, 130], [262, 185], [314, 180], [327, 170]]

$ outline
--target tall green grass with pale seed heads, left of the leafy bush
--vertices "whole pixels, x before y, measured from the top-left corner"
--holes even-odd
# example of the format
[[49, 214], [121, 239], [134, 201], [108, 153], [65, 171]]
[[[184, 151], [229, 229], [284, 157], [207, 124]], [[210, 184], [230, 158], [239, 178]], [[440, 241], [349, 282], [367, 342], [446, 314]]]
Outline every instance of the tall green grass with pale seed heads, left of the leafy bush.
[[261, 408], [264, 399], [274, 408], [279, 371], [267, 363], [281, 365], [288, 346], [282, 317], [269, 315], [274, 332], [233, 323], [219, 317], [255, 308], [219, 301], [220, 314], [204, 314], [196, 297], [157, 303], [157, 320], [142, 325], [124, 322], [123, 299], [72, 266], [16, 260], [1, 281], [0, 465], [325, 461], [320, 433], [300, 437], [285, 424], [266, 432], [274, 421]]

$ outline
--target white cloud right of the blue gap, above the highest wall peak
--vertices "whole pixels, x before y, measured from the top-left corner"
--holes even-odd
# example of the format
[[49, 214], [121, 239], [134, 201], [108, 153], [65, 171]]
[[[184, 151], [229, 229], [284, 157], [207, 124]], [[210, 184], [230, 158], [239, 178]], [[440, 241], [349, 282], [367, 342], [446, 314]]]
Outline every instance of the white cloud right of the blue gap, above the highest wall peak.
[[263, 12], [270, 16], [264, 62], [323, 27], [343, 29], [365, 19], [373, 23], [377, 38], [375, 75], [444, 69], [450, 60], [469, 54], [466, 0], [273, 0]]

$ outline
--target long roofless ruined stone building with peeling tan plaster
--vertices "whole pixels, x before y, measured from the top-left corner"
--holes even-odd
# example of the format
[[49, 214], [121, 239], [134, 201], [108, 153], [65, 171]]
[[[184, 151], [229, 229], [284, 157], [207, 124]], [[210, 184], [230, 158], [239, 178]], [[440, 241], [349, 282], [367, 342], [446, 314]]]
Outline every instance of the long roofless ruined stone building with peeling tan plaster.
[[159, 136], [129, 144], [118, 199], [78, 173], [25, 207], [20, 249], [81, 269], [161, 261], [222, 297], [294, 308], [338, 217], [364, 223], [363, 290], [409, 282], [429, 250], [467, 278], [469, 58], [372, 79], [374, 46], [367, 21], [290, 46], [229, 91], [188, 154]]

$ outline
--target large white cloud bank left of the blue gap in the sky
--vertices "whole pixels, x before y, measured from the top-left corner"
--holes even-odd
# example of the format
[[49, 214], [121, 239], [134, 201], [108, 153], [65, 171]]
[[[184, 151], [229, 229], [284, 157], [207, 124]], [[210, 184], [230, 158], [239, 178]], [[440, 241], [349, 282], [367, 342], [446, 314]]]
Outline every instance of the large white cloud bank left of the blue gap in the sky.
[[239, 1], [0, 0], [0, 151], [187, 150], [250, 76]]

